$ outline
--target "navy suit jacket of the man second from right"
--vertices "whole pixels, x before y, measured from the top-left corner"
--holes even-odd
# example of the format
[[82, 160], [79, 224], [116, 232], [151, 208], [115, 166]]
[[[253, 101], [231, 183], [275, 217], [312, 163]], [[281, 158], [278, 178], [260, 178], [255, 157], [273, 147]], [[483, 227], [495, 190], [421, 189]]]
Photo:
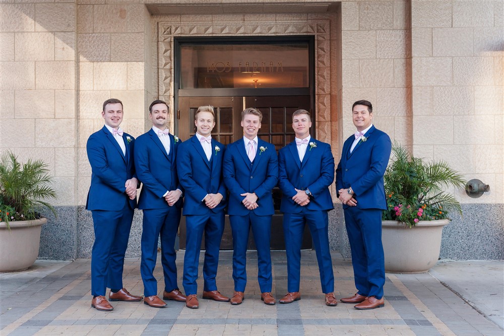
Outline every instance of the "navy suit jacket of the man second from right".
[[[280, 211], [296, 214], [306, 208], [308, 210], [331, 210], [334, 208], [329, 186], [334, 181], [334, 158], [329, 144], [311, 138], [310, 143], [317, 147], [306, 148], [303, 162], [299, 161], [295, 141], [287, 144], [278, 153], [279, 178], [278, 185], [282, 190]], [[292, 197], [296, 190], [309, 189], [312, 197], [310, 203], [301, 207]]]

